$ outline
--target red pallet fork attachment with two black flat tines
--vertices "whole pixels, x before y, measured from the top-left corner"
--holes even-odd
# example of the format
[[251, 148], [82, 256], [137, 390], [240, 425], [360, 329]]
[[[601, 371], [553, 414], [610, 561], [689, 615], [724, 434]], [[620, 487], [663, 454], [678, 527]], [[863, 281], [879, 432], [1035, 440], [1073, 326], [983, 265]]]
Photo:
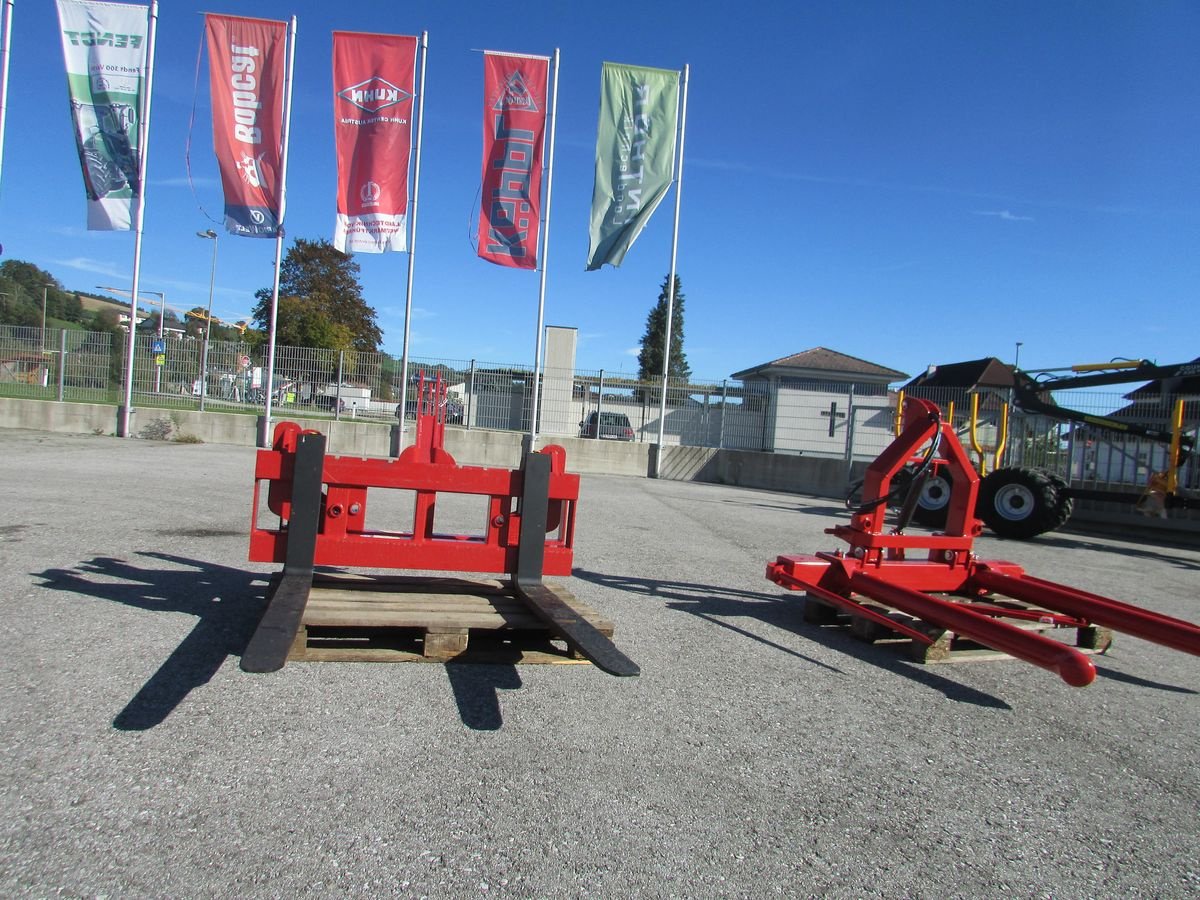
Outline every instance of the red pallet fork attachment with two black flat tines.
[[[300, 628], [313, 568], [424, 569], [508, 574], [524, 600], [556, 636], [599, 668], [618, 676], [640, 670], [612, 641], [563, 602], [542, 575], [570, 575], [580, 476], [568, 473], [566, 451], [546, 446], [524, 455], [520, 469], [458, 466], [443, 446], [445, 389], [440, 378], [419, 385], [416, 439], [396, 460], [325, 455], [325, 437], [280, 422], [270, 450], [254, 466], [250, 558], [283, 563], [262, 622], [242, 654], [241, 667], [271, 672], [287, 660]], [[278, 527], [259, 524], [259, 485]], [[366, 528], [370, 488], [412, 491], [407, 532]], [[478, 535], [433, 530], [438, 494], [487, 497]]]

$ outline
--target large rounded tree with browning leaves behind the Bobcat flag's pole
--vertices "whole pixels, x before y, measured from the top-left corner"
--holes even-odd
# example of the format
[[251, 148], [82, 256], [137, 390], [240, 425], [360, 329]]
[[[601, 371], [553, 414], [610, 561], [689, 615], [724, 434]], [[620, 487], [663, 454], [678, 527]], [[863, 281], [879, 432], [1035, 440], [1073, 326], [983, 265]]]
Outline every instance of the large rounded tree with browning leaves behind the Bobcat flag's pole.
[[[254, 324], [271, 322], [271, 290], [254, 294]], [[280, 306], [275, 340], [293, 347], [377, 350], [383, 332], [362, 299], [359, 264], [326, 240], [298, 238], [280, 266]]]

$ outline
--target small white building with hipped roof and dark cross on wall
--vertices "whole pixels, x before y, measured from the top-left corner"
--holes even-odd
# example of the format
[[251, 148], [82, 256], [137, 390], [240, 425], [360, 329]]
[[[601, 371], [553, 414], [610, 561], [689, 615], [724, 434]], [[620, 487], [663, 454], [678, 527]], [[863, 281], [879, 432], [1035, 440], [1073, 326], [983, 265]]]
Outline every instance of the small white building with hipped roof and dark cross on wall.
[[[762, 410], [761, 446], [780, 454], [844, 457], [851, 438], [876, 431], [890, 439], [888, 385], [905, 372], [814, 347], [734, 372], [746, 412]], [[862, 442], [856, 442], [862, 445]]]

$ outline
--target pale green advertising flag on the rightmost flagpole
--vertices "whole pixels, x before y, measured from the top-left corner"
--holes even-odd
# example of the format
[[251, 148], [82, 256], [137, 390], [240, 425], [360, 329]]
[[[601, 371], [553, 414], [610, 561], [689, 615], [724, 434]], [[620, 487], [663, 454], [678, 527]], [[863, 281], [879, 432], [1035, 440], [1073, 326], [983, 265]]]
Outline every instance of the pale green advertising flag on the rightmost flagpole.
[[605, 62], [588, 271], [620, 265], [671, 187], [679, 73]]

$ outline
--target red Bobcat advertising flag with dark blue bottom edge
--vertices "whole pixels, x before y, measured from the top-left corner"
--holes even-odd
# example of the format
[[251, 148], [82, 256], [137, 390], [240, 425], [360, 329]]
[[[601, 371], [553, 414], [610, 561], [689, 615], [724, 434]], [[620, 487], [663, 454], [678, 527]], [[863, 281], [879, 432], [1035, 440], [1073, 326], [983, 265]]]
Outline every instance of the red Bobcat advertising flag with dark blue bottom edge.
[[283, 196], [287, 24], [212, 13], [204, 22], [226, 229], [275, 238]]

